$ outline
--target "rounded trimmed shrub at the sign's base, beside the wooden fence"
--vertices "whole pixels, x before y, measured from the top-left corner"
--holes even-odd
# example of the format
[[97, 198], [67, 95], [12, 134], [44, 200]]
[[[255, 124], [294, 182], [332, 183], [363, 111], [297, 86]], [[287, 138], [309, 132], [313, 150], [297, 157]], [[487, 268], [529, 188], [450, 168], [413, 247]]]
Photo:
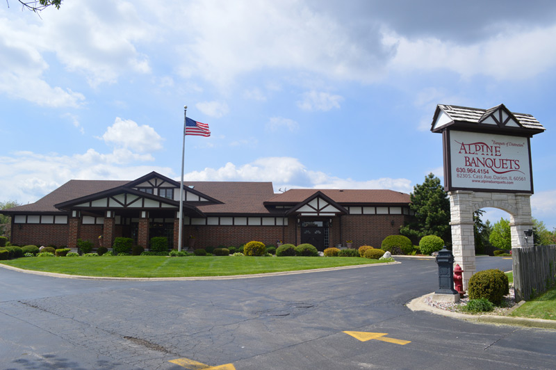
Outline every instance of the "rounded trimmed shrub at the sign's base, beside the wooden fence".
[[509, 293], [508, 278], [498, 269], [484, 270], [471, 276], [468, 283], [469, 299], [486, 298], [495, 305]]

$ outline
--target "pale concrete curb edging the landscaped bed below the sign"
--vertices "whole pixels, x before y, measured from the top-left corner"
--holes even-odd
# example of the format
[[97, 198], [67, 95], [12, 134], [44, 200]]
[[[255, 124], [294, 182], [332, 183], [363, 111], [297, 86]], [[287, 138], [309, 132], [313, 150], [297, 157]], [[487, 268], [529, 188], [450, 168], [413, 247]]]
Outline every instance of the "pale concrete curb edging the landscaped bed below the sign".
[[497, 315], [470, 315], [461, 314], [459, 312], [446, 311], [445, 309], [440, 309], [437, 307], [432, 307], [424, 302], [425, 298], [432, 296], [434, 293], [425, 294], [425, 296], [420, 296], [414, 298], [407, 303], [407, 307], [411, 311], [427, 311], [432, 314], [437, 314], [441, 316], [451, 317], [453, 319], [459, 319], [464, 321], [473, 321], [477, 323], [493, 323], [501, 325], [514, 325], [514, 326], [526, 326], [528, 328], [540, 328], [556, 330], [556, 320], [544, 320], [544, 319], [528, 319], [525, 317], [510, 317], [510, 316], [497, 316]]

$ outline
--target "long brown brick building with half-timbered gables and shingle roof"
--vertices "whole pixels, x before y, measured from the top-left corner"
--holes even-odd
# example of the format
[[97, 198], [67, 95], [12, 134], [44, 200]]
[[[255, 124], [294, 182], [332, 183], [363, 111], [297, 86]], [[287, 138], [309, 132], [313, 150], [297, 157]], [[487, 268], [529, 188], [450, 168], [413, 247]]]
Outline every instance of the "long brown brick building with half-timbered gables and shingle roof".
[[[15, 207], [11, 243], [110, 247], [118, 236], [144, 248], [154, 236], [178, 246], [179, 182], [151, 172], [129, 181], [70, 180], [33, 204]], [[409, 218], [409, 194], [390, 190], [292, 189], [270, 182], [185, 182], [183, 248], [311, 243], [380, 246]], [[101, 236], [101, 237], [99, 237]]]

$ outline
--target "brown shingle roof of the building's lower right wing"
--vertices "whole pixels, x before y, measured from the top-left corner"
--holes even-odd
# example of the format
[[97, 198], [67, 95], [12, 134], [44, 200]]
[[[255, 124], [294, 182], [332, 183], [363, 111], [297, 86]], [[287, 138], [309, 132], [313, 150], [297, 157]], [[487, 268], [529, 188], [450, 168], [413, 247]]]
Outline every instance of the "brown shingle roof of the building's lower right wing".
[[269, 203], [299, 203], [320, 191], [338, 204], [347, 203], [389, 203], [409, 204], [409, 194], [382, 189], [291, 189], [270, 198]]

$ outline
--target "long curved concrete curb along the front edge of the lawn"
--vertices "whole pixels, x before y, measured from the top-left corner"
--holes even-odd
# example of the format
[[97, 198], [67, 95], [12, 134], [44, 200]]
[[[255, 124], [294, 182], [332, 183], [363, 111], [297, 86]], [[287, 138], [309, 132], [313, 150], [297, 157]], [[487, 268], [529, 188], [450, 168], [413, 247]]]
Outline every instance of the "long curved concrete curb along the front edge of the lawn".
[[194, 280], [234, 280], [234, 279], [248, 279], [248, 278], [265, 278], [267, 276], [283, 276], [283, 275], [298, 275], [302, 273], [320, 273], [323, 271], [338, 271], [347, 270], [350, 268], [361, 268], [368, 266], [387, 266], [394, 264], [401, 264], [402, 262], [394, 261], [383, 264], [362, 264], [353, 266], [339, 266], [327, 268], [314, 268], [313, 270], [299, 270], [299, 271], [281, 271], [278, 273], [254, 273], [250, 275], [229, 275], [229, 276], [187, 276], [181, 278], [115, 278], [106, 276], [84, 276], [84, 275], [67, 275], [65, 273], [47, 273], [44, 271], [25, 270], [24, 268], [0, 264], [0, 267], [7, 270], [17, 271], [19, 273], [29, 273], [32, 275], [50, 276], [51, 278], [63, 279], [81, 279], [81, 280], [120, 280], [120, 281], [138, 281], [138, 282], [167, 282], [167, 281], [194, 281]]

